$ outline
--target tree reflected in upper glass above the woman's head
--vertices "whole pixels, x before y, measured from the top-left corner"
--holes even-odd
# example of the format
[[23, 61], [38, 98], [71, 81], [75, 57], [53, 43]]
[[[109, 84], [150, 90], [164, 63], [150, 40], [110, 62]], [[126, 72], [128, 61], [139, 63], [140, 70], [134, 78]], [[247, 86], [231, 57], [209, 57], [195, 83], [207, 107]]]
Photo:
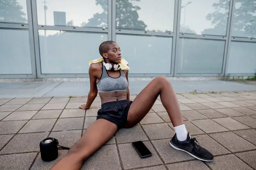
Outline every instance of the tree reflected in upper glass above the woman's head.
[[[145, 30], [146, 24], [139, 20], [139, 6], [134, 6], [133, 1], [141, 0], [117, 0], [116, 1], [116, 27], [123, 29]], [[96, 5], [101, 5], [104, 12], [96, 13], [88, 20], [88, 23], [82, 23], [82, 27], [110, 27], [108, 26], [107, 12], [108, 5], [106, 0], [96, 0]]]

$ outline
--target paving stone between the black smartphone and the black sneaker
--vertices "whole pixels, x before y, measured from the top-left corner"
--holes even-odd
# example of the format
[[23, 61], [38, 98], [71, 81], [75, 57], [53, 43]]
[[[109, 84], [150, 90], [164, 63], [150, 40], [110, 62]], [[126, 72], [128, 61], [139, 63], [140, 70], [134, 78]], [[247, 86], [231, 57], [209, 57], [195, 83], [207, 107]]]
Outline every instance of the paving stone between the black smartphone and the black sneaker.
[[[193, 160], [192, 156], [187, 154], [186, 152], [181, 152], [180, 150], [176, 150], [170, 146], [171, 139], [162, 139], [162, 140], [153, 140], [152, 143], [155, 146], [155, 149], [162, 157], [163, 161], [168, 164], [171, 162], [178, 161], [187, 161]], [[175, 156], [174, 156], [175, 155]]]

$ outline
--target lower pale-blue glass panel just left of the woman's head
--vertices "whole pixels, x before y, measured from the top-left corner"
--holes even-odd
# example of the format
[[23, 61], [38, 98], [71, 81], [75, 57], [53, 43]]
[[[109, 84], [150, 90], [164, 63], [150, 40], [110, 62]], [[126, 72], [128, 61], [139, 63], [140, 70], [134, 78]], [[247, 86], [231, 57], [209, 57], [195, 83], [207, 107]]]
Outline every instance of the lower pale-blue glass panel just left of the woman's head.
[[101, 57], [104, 33], [38, 30], [42, 74], [88, 74], [89, 61]]

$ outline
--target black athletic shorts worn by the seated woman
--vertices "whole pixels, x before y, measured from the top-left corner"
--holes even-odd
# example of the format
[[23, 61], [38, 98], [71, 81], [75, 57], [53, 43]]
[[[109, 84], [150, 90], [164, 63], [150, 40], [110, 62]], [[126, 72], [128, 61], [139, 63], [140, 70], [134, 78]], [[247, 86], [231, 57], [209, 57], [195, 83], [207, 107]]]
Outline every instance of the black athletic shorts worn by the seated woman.
[[133, 101], [120, 100], [106, 102], [101, 105], [97, 119], [105, 119], [114, 124], [117, 128], [123, 128], [127, 122], [128, 111]]

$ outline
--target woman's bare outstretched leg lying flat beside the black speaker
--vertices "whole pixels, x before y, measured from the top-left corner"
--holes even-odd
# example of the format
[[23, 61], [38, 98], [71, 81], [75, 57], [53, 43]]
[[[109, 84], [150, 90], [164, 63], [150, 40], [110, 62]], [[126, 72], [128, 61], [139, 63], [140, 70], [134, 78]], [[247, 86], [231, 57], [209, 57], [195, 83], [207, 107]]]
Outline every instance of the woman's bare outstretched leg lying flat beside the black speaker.
[[105, 144], [117, 131], [117, 126], [98, 119], [86, 129], [84, 135], [50, 170], [80, 170], [83, 161]]

